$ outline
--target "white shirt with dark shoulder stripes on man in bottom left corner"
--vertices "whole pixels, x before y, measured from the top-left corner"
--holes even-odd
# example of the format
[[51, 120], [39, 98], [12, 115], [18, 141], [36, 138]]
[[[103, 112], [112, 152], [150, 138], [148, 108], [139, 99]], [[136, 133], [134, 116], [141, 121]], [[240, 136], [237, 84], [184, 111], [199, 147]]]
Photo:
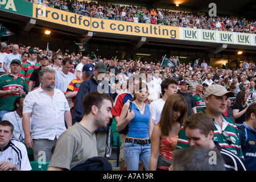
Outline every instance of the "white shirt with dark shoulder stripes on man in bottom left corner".
[[3, 148], [3, 151], [0, 150], [0, 163], [3, 161], [15, 164], [22, 171], [30, 171], [32, 169], [26, 146], [16, 139], [11, 139], [7, 146]]

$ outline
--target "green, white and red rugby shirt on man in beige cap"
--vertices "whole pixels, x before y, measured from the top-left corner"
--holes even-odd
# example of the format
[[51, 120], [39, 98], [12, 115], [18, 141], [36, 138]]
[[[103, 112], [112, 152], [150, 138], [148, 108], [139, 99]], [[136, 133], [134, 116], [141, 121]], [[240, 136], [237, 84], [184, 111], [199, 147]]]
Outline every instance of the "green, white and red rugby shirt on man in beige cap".
[[[205, 110], [203, 109], [201, 110], [201, 112], [205, 113]], [[214, 139], [213, 140], [218, 142], [221, 148], [226, 148], [232, 151], [234, 154], [243, 158], [243, 153], [241, 150], [241, 141], [238, 134], [237, 126], [234, 124], [233, 121], [225, 117], [224, 114], [222, 114], [221, 116], [222, 116], [223, 125], [226, 125], [225, 127], [226, 135], [228, 135], [228, 139], [230, 139], [232, 143], [229, 145], [228, 140], [225, 138], [224, 134], [222, 134], [223, 132], [220, 133], [220, 131], [218, 130], [218, 124], [214, 121], [214, 119], [213, 119], [214, 121]], [[185, 137], [184, 127], [181, 126], [176, 149], [186, 148], [186, 147], [189, 147], [188, 139], [187, 137]]]

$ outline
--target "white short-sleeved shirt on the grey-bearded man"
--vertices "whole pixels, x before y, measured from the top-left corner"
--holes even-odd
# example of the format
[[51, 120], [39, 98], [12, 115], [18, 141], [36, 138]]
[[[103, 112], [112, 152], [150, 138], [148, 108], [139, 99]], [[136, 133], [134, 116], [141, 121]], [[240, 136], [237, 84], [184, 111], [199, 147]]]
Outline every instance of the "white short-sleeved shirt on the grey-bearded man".
[[28, 93], [23, 101], [23, 113], [32, 113], [31, 138], [59, 138], [66, 130], [65, 111], [70, 111], [70, 108], [64, 93], [59, 89], [54, 89], [52, 98], [41, 86]]

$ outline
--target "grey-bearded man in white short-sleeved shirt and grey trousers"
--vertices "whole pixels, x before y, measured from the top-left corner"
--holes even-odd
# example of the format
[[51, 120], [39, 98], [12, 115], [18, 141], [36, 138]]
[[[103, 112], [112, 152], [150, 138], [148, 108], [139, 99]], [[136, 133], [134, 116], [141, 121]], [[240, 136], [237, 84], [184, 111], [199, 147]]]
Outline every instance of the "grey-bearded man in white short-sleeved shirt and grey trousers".
[[28, 148], [33, 148], [34, 160], [43, 157], [49, 161], [56, 140], [72, 126], [67, 99], [61, 90], [55, 89], [55, 74], [51, 67], [42, 68], [39, 88], [30, 92], [23, 101], [24, 142]]

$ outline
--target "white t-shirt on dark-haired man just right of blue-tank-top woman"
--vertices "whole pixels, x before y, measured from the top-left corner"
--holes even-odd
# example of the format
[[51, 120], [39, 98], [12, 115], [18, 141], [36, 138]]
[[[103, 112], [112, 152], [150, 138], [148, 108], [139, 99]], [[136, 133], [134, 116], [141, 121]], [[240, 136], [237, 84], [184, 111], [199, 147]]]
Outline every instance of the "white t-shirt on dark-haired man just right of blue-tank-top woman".
[[155, 120], [155, 125], [160, 121], [165, 103], [166, 101], [162, 100], [162, 98], [159, 98], [158, 100], [153, 101], [150, 104], [152, 106], [152, 119]]

